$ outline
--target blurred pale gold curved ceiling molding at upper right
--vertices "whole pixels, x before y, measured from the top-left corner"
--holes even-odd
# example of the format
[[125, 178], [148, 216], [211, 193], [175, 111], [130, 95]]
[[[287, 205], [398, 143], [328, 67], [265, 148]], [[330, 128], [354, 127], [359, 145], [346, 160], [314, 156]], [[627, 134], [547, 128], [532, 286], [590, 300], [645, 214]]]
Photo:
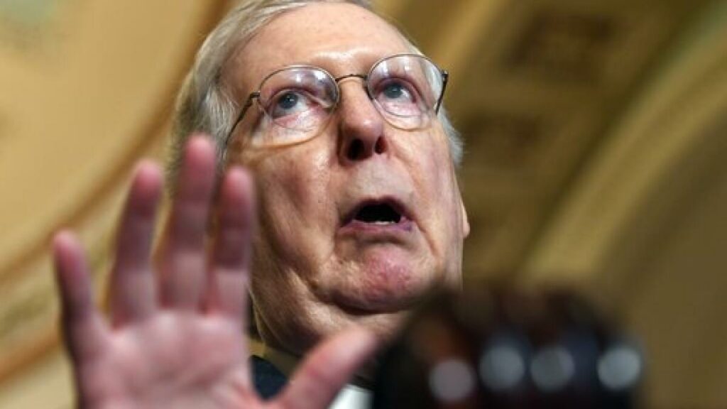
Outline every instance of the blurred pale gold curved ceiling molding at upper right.
[[[705, 9], [603, 138], [526, 258], [524, 281], [587, 282], [629, 245], [645, 204], [675, 188], [679, 164], [720, 143], [727, 112], [727, 3]], [[691, 175], [698, 177], [699, 174]], [[688, 201], [688, 191], [682, 199]], [[673, 194], [673, 193], [670, 193]], [[660, 221], [661, 222], [661, 221]], [[656, 223], [658, 225], [659, 223]], [[656, 229], [656, 225], [652, 226]]]

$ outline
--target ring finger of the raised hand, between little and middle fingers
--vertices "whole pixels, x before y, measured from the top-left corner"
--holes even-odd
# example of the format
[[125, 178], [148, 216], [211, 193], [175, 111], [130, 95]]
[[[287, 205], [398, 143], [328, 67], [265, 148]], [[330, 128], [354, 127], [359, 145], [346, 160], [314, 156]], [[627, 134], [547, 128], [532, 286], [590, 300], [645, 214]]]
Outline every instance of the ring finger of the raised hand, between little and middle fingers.
[[111, 272], [113, 325], [144, 319], [156, 310], [150, 252], [160, 196], [161, 170], [152, 162], [141, 162], [121, 216]]

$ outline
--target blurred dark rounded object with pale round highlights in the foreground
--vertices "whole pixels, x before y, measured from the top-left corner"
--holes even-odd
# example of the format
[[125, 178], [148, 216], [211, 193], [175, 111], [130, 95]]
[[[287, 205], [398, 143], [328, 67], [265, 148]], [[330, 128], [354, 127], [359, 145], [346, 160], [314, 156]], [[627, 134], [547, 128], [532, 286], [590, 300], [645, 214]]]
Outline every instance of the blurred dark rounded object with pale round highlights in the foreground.
[[385, 352], [374, 409], [637, 407], [643, 354], [566, 290], [433, 296]]

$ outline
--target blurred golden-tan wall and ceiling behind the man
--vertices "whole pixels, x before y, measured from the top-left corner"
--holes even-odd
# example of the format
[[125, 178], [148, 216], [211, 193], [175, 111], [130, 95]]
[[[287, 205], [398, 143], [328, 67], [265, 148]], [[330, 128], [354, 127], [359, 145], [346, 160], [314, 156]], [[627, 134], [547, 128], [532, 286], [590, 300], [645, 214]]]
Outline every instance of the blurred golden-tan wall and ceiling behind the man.
[[[71, 408], [47, 244], [103, 287], [129, 172], [229, 0], [0, 0], [0, 408]], [[381, 0], [451, 73], [465, 277], [576, 285], [655, 408], [727, 406], [727, 1]], [[513, 273], [513, 271], [517, 271]]]

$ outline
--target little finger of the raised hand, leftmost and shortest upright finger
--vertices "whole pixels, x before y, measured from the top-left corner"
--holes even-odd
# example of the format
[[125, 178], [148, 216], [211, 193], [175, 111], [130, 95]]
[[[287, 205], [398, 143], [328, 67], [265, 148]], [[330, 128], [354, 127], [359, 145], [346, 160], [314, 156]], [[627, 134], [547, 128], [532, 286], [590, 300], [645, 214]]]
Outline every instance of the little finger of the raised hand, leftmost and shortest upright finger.
[[108, 329], [96, 308], [81, 245], [68, 231], [53, 238], [53, 259], [63, 313], [63, 335], [76, 362], [92, 360], [103, 349]]

